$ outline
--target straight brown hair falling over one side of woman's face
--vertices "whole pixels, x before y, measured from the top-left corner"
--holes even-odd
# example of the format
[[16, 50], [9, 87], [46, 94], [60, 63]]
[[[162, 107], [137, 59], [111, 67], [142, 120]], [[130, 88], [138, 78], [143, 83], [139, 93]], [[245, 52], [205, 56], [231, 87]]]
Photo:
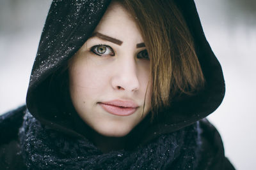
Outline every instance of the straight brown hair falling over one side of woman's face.
[[172, 0], [119, 0], [141, 31], [150, 57], [152, 113], [173, 97], [193, 95], [204, 87], [193, 38]]

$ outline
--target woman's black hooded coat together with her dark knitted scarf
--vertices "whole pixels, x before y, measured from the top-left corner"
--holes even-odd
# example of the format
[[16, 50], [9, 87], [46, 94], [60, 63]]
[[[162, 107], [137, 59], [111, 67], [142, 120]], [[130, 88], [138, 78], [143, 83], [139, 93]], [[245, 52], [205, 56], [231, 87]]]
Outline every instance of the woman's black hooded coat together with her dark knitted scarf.
[[[0, 117], [1, 169], [234, 169], [220, 134], [205, 119], [225, 94], [220, 63], [205, 39], [193, 0], [174, 1], [193, 36], [205, 88], [195, 96], [173, 99], [153, 122], [145, 117], [127, 135], [129, 145], [109, 153], [93, 145], [90, 128], [49, 87], [90, 38], [110, 1], [52, 1], [26, 106]], [[79, 131], [81, 127], [88, 132]]]

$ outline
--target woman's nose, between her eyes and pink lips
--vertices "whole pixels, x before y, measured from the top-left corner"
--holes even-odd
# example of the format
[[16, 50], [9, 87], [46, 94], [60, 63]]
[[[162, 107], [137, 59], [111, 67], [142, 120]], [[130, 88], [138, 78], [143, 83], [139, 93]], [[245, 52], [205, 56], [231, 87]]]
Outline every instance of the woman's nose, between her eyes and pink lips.
[[[125, 58], [125, 57], [124, 57]], [[115, 90], [134, 92], [140, 88], [134, 59], [123, 59], [116, 62], [115, 73], [111, 78], [111, 85]]]

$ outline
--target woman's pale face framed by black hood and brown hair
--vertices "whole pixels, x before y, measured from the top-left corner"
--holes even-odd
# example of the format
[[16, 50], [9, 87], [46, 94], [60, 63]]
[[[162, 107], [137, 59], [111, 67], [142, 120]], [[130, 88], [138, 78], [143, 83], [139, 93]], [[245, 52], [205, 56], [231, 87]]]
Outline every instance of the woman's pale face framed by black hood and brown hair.
[[136, 23], [120, 4], [111, 3], [92, 37], [70, 60], [72, 103], [99, 134], [125, 136], [150, 110], [149, 74]]

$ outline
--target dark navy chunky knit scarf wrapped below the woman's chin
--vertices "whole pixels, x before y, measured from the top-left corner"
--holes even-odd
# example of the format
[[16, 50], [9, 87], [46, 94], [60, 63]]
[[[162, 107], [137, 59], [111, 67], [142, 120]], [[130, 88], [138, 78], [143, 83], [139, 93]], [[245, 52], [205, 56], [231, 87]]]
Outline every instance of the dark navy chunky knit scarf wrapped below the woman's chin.
[[193, 124], [134, 150], [102, 153], [88, 139], [53, 131], [27, 111], [19, 136], [28, 169], [196, 169], [199, 131]]

